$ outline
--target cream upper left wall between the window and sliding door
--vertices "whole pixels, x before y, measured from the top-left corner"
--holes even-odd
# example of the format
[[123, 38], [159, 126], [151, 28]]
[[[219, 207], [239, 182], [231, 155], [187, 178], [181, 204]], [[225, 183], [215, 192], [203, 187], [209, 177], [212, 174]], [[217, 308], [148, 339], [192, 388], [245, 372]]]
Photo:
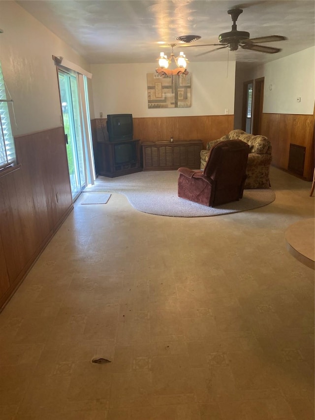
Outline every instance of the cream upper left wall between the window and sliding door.
[[[0, 60], [14, 103], [13, 135], [61, 126], [56, 66], [62, 56], [90, 71], [90, 65], [15, 1], [0, 1]], [[93, 115], [91, 115], [93, 118]]]

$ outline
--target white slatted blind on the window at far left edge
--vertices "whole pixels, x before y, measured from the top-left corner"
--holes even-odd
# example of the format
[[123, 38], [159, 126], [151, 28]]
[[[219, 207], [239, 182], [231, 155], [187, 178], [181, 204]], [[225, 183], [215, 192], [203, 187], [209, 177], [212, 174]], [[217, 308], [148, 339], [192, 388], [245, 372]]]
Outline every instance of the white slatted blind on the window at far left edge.
[[0, 64], [0, 169], [15, 162], [14, 138], [11, 131], [8, 102]]

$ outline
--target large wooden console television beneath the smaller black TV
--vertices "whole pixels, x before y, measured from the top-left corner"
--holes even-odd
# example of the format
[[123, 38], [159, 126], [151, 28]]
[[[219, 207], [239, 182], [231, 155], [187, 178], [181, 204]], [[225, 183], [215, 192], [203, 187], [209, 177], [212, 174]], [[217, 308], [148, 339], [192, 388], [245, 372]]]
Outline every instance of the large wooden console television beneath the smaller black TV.
[[110, 178], [142, 171], [140, 140], [98, 142], [96, 166], [98, 175]]

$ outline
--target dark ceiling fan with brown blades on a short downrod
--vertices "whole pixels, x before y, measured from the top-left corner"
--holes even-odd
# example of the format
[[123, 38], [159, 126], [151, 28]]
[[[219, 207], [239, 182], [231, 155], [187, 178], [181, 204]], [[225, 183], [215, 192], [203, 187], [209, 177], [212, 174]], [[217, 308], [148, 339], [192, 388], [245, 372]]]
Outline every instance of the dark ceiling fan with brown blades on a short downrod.
[[[287, 39], [285, 36], [281, 35], [270, 35], [270, 36], [261, 36], [258, 38], [250, 38], [250, 33], [245, 31], [238, 31], [236, 27], [236, 21], [241, 13], [243, 13], [242, 9], [230, 9], [227, 13], [231, 16], [233, 25], [232, 31], [230, 32], [223, 32], [219, 35], [219, 44], [199, 44], [199, 45], [188, 45], [188, 47], [207, 47], [207, 46], [220, 46], [219, 48], [215, 48], [214, 50], [207, 51], [202, 54], [198, 54], [198, 56], [202, 56], [204, 54], [211, 53], [213, 51], [221, 50], [222, 48], [228, 48], [230, 51], [236, 51], [238, 48], [243, 48], [244, 50], [253, 50], [259, 51], [261, 53], [267, 54], [275, 54], [281, 51], [280, 48], [275, 47], [266, 47], [264, 45], [257, 45], [260, 42], [274, 42], [274, 41], [284, 41]], [[179, 41], [185, 42], [185, 36], [179, 36], [176, 38]], [[186, 41], [187, 42], [187, 41]]]

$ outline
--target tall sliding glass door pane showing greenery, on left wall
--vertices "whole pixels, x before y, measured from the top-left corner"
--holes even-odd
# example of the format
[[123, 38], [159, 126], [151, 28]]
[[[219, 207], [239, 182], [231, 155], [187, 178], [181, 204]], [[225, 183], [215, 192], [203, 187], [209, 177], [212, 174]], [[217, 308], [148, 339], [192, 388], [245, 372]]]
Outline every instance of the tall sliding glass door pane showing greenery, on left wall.
[[85, 187], [77, 77], [75, 74], [58, 69], [58, 79], [71, 194], [75, 200]]

